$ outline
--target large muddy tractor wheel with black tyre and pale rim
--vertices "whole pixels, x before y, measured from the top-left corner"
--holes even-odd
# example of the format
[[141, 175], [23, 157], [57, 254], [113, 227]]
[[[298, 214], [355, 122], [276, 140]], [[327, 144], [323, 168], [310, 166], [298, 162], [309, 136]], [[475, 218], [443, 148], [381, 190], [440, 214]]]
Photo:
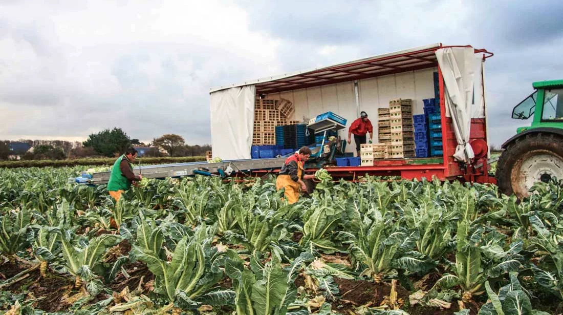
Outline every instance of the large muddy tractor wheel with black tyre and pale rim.
[[538, 181], [563, 179], [563, 138], [538, 132], [517, 138], [498, 160], [498, 187], [502, 193], [522, 199]]

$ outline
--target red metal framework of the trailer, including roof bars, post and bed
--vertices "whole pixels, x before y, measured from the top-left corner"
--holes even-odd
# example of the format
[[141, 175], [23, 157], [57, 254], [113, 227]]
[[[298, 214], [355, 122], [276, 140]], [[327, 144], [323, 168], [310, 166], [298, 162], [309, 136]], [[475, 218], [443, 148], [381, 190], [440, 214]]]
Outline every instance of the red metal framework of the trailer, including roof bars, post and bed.
[[[423, 65], [420, 64], [421, 62], [426, 61], [434, 62], [434, 60], [430, 60], [428, 57], [419, 57], [422, 54], [432, 53], [434, 54], [436, 50], [440, 48], [447, 48], [447, 47], [471, 47], [470, 45], [467, 46], [443, 46], [441, 43], [438, 47], [428, 48], [425, 50], [418, 50], [418, 51], [410, 51], [404, 54], [397, 54], [391, 56], [385, 56], [378, 59], [373, 60], [362, 60], [358, 61], [357, 63], [349, 63], [346, 64], [346, 67], [350, 66], [357, 66], [357, 65], [371, 65], [373, 66], [381, 66], [385, 68], [389, 68], [391, 70], [386, 70], [385, 72], [380, 72], [375, 76], [382, 76], [386, 74], [392, 73], [400, 73], [400, 72], [407, 72], [412, 70], [419, 70], [429, 68], [429, 64]], [[485, 50], [485, 49], [475, 49], [475, 54], [482, 53], [482, 59], [485, 60], [491, 56], [493, 53]], [[414, 61], [393, 61], [392, 59], [397, 60], [397, 58], [406, 57], [407, 59], [412, 59]], [[391, 61], [389, 61], [391, 60]], [[417, 64], [418, 60], [418, 64]], [[422, 60], [422, 61], [421, 61]], [[386, 61], [386, 62], [382, 62]], [[401, 68], [397, 66], [393, 66], [393, 64], [397, 64], [401, 62]], [[405, 67], [406, 66], [406, 67]], [[471, 163], [467, 165], [462, 165], [455, 161], [453, 154], [455, 153], [455, 148], [457, 147], [458, 143], [455, 139], [455, 133], [453, 130], [452, 118], [446, 117], [445, 115], [445, 99], [444, 99], [444, 78], [442, 76], [442, 72], [440, 66], [437, 62], [432, 64], [432, 66], [437, 66], [438, 68], [438, 76], [439, 76], [439, 86], [440, 86], [440, 113], [441, 113], [441, 125], [442, 125], [442, 143], [443, 143], [443, 162], [440, 163], [433, 163], [433, 164], [413, 164], [412, 159], [381, 159], [374, 161], [373, 166], [357, 166], [357, 167], [327, 167], [325, 168], [330, 175], [334, 179], [348, 179], [348, 180], [356, 180], [361, 176], [370, 175], [370, 176], [401, 176], [403, 179], [413, 180], [418, 179], [422, 180], [426, 178], [428, 180], [432, 178], [437, 178], [440, 180], [463, 180], [463, 181], [470, 181], [470, 182], [477, 182], [477, 183], [493, 183], [496, 184], [495, 179], [492, 176], [489, 176], [489, 167], [487, 163], [487, 156], [488, 156], [488, 143], [487, 143], [487, 128], [486, 128], [486, 117], [485, 118], [472, 118], [471, 119], [471, 132], [470, 132], [470, 144], [475, 151], [475, 159], [471, 161]], [[332, 82], [342, 82], [345, 81], [352, 81], [357, 78], [368, 78], [367, 74], [362, 72], [354, 72], [358, 74], [356, 77], [350, 77], [351, 72], [345, 72], [339, 70], [342, 65], [332, 66], [328, 68], [323, 68], [318, 70], [321, 73], [327, 72], [342, 72], [345, 73], [343, 76], [332, 77], [336, 78], [336, 81], [333, 79], [331, 82], [307, 82], [303, 83], [298, 88], [303, 87], [310, 87], [310, 86], [319, 86], [323, 84], [330, 84]], [[346, 75], [347, 73], [347, 75]], [[306, 73], [306, 74], [298, 74], [296, 77], [305, 77], [305, 78], [315, 78], [314, 72]], [[326, 74], [324, 74], [326, 75]], [[375, 77], [372, 76], [372, 77]], [[319, 74], [318, 77], [322, 80], [327, 80], [322, 78]], [[265, 82], [257, 85], [257, 94], [262, 92], [271, 92], [271, 91], [285, 91], [292, 89], [294, 87], [284, 86], [291, 82], [291, 84], [296, 85], [298, 81], [272, 81], [272, 82]], [[481, 84], [484, 86], [484, 79], [481, 80]], [[486, 104], [485, 104], [486, 106]], [[475, 165], [482, 165], [481, 167], [475, 167]], [[281, 167], [281, 165], [280, 165]], [[307, 172], [314, 172], [317, 168], [309, 168]], [[252, 171], [254, 176], [263, 176], [270, 172], [278, 172], [278, 170], [256, 170]]]

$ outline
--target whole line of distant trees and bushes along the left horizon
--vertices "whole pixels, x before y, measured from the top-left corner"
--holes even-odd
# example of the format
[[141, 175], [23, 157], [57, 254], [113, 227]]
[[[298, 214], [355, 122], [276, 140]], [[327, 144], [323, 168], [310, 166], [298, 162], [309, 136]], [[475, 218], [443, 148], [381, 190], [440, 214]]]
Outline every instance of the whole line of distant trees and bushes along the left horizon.
[[[26, 143], [33, 149], [14, 152], [10, 147], [15, 143]], [[211, 145], [187, 145], [184, 137], [175, 134], [162, 135], [145, 144], [131, 139], [116, 127], [91, 134], [83, 143], [62, 140], [0, 141], [0, 160], [7, 160], [16, 153], [24, 160], [117, 157], [128, 147], [142, 148], [144, 157], [195, 157], [205, 156], [205, 152], [211, 151]]]

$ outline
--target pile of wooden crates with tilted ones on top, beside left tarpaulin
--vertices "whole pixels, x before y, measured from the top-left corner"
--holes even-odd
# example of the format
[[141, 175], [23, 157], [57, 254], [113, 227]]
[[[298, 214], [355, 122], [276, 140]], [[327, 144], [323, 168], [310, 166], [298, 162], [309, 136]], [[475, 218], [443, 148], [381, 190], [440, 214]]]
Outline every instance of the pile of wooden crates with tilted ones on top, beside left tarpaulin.
[[287, 125], [294, 111], [288, 100], [256, 99], [252, 145], [276, 144], [276, 126]]

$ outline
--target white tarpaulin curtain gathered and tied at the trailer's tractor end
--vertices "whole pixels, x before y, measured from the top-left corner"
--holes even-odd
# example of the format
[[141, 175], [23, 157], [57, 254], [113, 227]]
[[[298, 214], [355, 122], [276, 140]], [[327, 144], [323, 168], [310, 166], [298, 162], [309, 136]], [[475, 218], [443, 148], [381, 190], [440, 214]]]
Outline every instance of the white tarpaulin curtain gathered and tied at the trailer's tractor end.
[[485, 116], [482, 58], [471, 47], [441, 48], [436, 57], [444, 78], [446, 116], [452, 117], [458, 143], [454, 158], [468, 162], [475, 157], [469, 144], [471, 118]]

